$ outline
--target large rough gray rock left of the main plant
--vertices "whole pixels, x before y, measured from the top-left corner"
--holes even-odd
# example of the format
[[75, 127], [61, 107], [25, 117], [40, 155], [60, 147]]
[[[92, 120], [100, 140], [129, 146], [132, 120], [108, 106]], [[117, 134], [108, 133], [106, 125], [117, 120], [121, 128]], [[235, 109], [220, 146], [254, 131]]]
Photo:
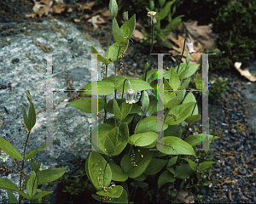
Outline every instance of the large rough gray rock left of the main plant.
[[[19, 25], [22, 27], [22, 25]], [[37, 26], [43, 29], [37, 29]], [[24, 26], [23, 26], [24, 27]], [[61, 29], [61, 32], [54, 32], [53, 27]], [[24, 27], [25, 29], [25, 27]], [[26, 98], [26, 90], [32, 96], [32, 103], [36, 113], [46, 107], [46, 67], [47, 56], [44, 53], [58, 53], [53, 55], [52, 88], [67, 89], [66, 77], [71, 77], [72, 89], [83, 88], [91, 82], [90, 78], [90, 46], [93, 45], [99, 53], [105, 53], [97, 41], [88, 40], [75, 26], [63, 23], [58, 20], [42, 23], [32, 23], [28, 28], [32, 35], [18, 34], [6, 37], [11, 42], [0, 50], [0, 136], [15, 146], [21, 152], [24, 148], [21, 145], [27, 137], [25, 127], [22, 125], [22, 106], [29, 111], [29, 102]], [[71, 40], [72, 39], [72, 40]], [[38, 46], [37, 46], [37, 41]], [[44, 50], [39, 47], [44, 46]], [[46, 51], [45, 48], [51, 48]], [[26, 55], [27, 53], [27, 55]], [[40, 55], [40, 53], [43, 53]], [[73, 57], [74, 56], [74, 57]], [[43, 68], [39, 68], [41, 66]], [[34, 69], [37, 67], [37, 69]], [[113, 65], [108, 66], [108, 77], [113, 76]], [[100, 73], [100, 71], [99, 71]], [[99, 79], [102, 80], [100, 74]], [[11, 82], [11, 88], [8, 83]], [[50, 87], [50, 86], [49, 86]], [[77, 93], [73, 93], [76, 95]], [[113, 94], [111, 95], [113, 97]], [[53, 93], [53, 101], [50, 104], [56, 105], [52, 110], [52, 139], [59, 139], [60, 142], [53, 143], [54, 150], [42, 150], [33, 159], [38, 163], [41, 160], [41, 169], [65, 168], [68, 176], [79, 175], [79, 170], [84, 171], [85, 160], [90, 152], [90, 113], [68, 105], [67, 92]], [[64, 99], [64, 100], [61, 100]], [[108, 98], [109, 99], [109, 98]], [[113, 99], [113, 98], [112, 98]], [[103, 113], [104, 111], [100, 111]], [[103, 115], [102, 115], [103, 116]], [[108, 114], [109, 116], [113, 116]], [[99, 114], [99, 123], [102, 124], [102, 117]], [[32, 128], [30, 138], [26, 144], [26, 154], [38, 149], [46, 143], [46, 110], [36, 116], [36, 124]], [[18, 131], [19, 130], [19, 131]], [[13, 158], [3, 150], [0, 154], [0, 163], [9, 169], [15, 169]], [[20, 168], [21, 169], [21, 168]], [[30, 161], [26, 161], [24, 171], [32, 173]], [[25, 174], [25, 179], [27, 177]], [[8, 178], [20, 188], [20, 176], [17, 173], [9, 173], [3, 178]], [[50, 189], [49, 201], [56, 200], [56, 187]], [[45, 184], [41, 189], [44, 189]], [[7, 202], [7, 190], [1, 190], [0, 201]], [[26, 191], [25, 191], [26, 192]], [[18, 194], [14, 192], [18, 199]], [[23, 203], [27, 200], [24, 199]]]

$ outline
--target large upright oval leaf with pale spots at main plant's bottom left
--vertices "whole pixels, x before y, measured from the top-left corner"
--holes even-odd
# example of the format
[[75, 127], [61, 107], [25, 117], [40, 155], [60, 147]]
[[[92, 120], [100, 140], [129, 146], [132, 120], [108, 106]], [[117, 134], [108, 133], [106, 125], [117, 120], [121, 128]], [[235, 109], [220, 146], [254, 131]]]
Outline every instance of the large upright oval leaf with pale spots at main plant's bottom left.
[[[97, 190], [102, 190], [99, 182], [103, 187], [108, 187], [112, 180], [112, 173], [109, 164], [106, 167], [106, 171], [104, 173], [104, 169], [107, 161], [105, 161], [104, 157], [101, 156], [97, 151], [91, 151], [89, 156], [88, 168], [90, 178], [92, 180], [92, 184], [96, 187]], [[101, 170], [102, 169], [102, 170]], [[101, 173], [101, 174], [100, 174]], [[104, 177], [104, 184], [103, 184]], [[99, 178], [99, 182], [98, 182]]]

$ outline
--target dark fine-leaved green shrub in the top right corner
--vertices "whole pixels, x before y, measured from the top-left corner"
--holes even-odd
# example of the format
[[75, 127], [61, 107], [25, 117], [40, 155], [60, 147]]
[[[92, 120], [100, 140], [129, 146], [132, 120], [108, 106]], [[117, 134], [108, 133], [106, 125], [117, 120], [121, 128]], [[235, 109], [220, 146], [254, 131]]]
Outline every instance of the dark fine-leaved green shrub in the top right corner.
[[212, 32], [218, 33], [217, 47], [221, 52], [211, 56], [214, 69], [230, 69], [235, 62], [255, 58], [256, 28], [255, 1], [243, 0], [181, 0], [177, 1], [177, 13], [188, 13], [187, 17], [205, 25], [212, 23]]

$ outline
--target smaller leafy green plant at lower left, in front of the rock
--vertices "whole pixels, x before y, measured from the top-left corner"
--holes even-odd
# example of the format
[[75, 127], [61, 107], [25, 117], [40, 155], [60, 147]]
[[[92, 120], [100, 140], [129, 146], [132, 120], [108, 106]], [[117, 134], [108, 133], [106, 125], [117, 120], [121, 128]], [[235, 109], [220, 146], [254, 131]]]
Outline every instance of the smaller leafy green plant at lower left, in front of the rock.
[[[26, 128], [28, 130], [27, 139], [26, 139], [26, 143], [27, 143], [32, 127], [34, 127], [36, 123], [36, 112], [34, 109], [34, 105], [32, 104], [32, 97], [28, 90], [26, 91], [26, 97], [30, 102], [28, 117], [26, 115], [26, 110], [24, 107], [22, 107], [22, 114], [23, 114], [24, 122], [26, 124]], [[59, 141], [59, 140], [55, 139], [54, 141]], [[0, 148], [9, 156], [13, 157], [14, 159], [22, 161], [22, 169], [20, 171], [20, 189], [18, 189], [16, 184], [9, 181], [8, 178], [0, 178], [0, 189], [8, 190], [10, 203], [18, 203], [12, 191], [16, 191], [20, 194], [19, 203], [21, 203], [23, 197], [25, 197], [28, 200], [31, 200], [32, 203], [34, 202], [41, 203], [42, 197], [53, 192], [53, 191], [42, 191], [40, 189], [37, 189], [37, 187], [40, 184], [51, 182], [56, 178], [61, 177], [67, 170], [63, 168], [51, 168], [51, 169], [45, 169], [40, 171], [41, 161], [39, 161], [39, 163], [37, 164], [36, 161], [34, 161], [32, 158], [38, 155], [38, 153], [41, 150], [49, 146], [49, 144], [51, 144], [54, 141], [50, 141], [47, 144], [42, 145], [38, 149], [32, 150], [27, 155], [26, 155], [26, 144], [25, 144], [24, 153], [23, 153], [24, 156], [22, 158], [20, 152], [16, 150], [12, 144], [10, 144], [7, 140], [0, 137]], [[29, 160], [31, 161], [31, 166], [33, 171], [28, 177], [26, 177], [26, 180], [22, 183], [22, 188], [21, 188], [21, 179], [24, 180], [23, 167], [25, 162]], [[27, 194], [24, 193], [24, 190], [26, 190]]]

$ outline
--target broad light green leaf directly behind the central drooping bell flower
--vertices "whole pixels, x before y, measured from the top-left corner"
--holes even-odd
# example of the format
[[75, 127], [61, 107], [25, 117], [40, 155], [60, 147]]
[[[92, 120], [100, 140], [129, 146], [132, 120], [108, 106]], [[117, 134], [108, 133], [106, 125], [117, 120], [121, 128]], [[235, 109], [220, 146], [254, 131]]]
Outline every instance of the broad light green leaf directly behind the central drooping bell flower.
[[[116, 85], [118, 91], [121, 93], [123, 92], [124, 81], [125, 79], [119, 80], [119, 82], [117, 82], [117, 85]], [[143, 80], [140, 80], [140, 79], [131, 79], [130, 82], [131, 82], [131, 89], [134, 90], [135, 93], [143, 90], [152, 89], [152, 87], [149, 85], [148, 82], [144, 82]], [[128, 89], [130, 89], [129, 84], [125, 82], [124, 92], [126, 93]]]

